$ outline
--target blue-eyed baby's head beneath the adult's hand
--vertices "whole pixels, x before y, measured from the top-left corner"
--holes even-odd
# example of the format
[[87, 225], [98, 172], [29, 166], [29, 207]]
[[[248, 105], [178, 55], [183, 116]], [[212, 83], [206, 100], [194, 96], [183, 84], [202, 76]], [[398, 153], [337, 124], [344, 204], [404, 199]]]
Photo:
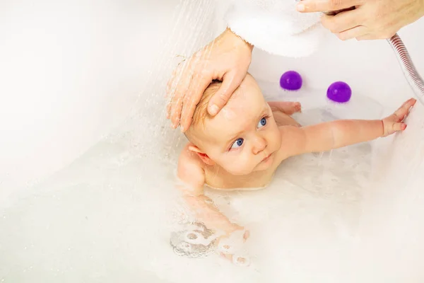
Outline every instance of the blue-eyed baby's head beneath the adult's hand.
[[220, 85], [213, 81], [194, 110], [186, 132], [194, 145], [189, 149], [204, 163], [217, 164], [233, 175], [269, 168], [280, 149], [281, 134], [257, 82], [247, 74], [224, 108], [212, 117], [207, 106]]

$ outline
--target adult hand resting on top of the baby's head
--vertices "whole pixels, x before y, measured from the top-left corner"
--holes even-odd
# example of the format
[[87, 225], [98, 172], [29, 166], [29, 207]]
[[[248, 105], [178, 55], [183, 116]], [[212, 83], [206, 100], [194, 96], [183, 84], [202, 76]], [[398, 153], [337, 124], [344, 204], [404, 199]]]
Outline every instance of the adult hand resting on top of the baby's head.
[[253, 46], [226, 29], [215, 40], [179, 64], [167, 84], [167, 118], [172, 127], [187, 130], [197, 103], [214, 80], [223, 81], [208, 104], [210, 115], [216, 115], [240, 86], [252, 59]]

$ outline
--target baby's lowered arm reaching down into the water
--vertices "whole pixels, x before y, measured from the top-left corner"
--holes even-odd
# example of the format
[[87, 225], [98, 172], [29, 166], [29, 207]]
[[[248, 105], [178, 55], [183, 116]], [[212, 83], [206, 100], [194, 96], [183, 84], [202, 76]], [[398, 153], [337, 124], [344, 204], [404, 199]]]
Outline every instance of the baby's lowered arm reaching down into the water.
[[177, 175], [183, 183], [178, 185], [178, 188], [182, 191], [185, 202], [198, 221], [206, 225], [208, 229], [223, 231], [227, 235], [243, 229], [230, 222], [213, 204], [213, 201], [204, 195], [204, 169], [199, 158], [189, 151], [187, 146], [179, 156]]

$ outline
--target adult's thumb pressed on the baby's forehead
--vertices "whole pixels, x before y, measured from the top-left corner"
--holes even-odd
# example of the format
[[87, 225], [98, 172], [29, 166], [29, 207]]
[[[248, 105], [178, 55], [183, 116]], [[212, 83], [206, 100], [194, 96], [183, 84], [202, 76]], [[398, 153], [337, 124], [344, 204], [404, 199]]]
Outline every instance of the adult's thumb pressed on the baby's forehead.
[[240, 86], [242, 80], [245, 79], [246, 73], [230, 71], [223, 76], [223, 83], [209, 101], [208, 112], [215, 116], [227, 104], [232, 93]]

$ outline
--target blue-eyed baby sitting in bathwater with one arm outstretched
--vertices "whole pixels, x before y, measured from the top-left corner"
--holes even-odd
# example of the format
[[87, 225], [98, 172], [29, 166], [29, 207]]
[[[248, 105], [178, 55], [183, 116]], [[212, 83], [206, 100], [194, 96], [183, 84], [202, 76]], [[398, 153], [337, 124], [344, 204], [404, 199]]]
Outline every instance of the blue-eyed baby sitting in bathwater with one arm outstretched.
[[179, 156], [179, 188], [196, 219], [208, 229], [229, 236], [242, 231], [204, 195], [204, 185], [219, 190], [266, 187], [280, 163], [298, 154], [329, 151], [403, 131], [402, 122], [416, 103], [411, 98], [383, 120], [336, 120], [301, 127], [291, 114], [300, 103], [266, 102], [254, 78], [247, 74], [227, 105], [211, 117], [208, 100], [220, 86], [213, 81], [196, 106], [189, 142]]

